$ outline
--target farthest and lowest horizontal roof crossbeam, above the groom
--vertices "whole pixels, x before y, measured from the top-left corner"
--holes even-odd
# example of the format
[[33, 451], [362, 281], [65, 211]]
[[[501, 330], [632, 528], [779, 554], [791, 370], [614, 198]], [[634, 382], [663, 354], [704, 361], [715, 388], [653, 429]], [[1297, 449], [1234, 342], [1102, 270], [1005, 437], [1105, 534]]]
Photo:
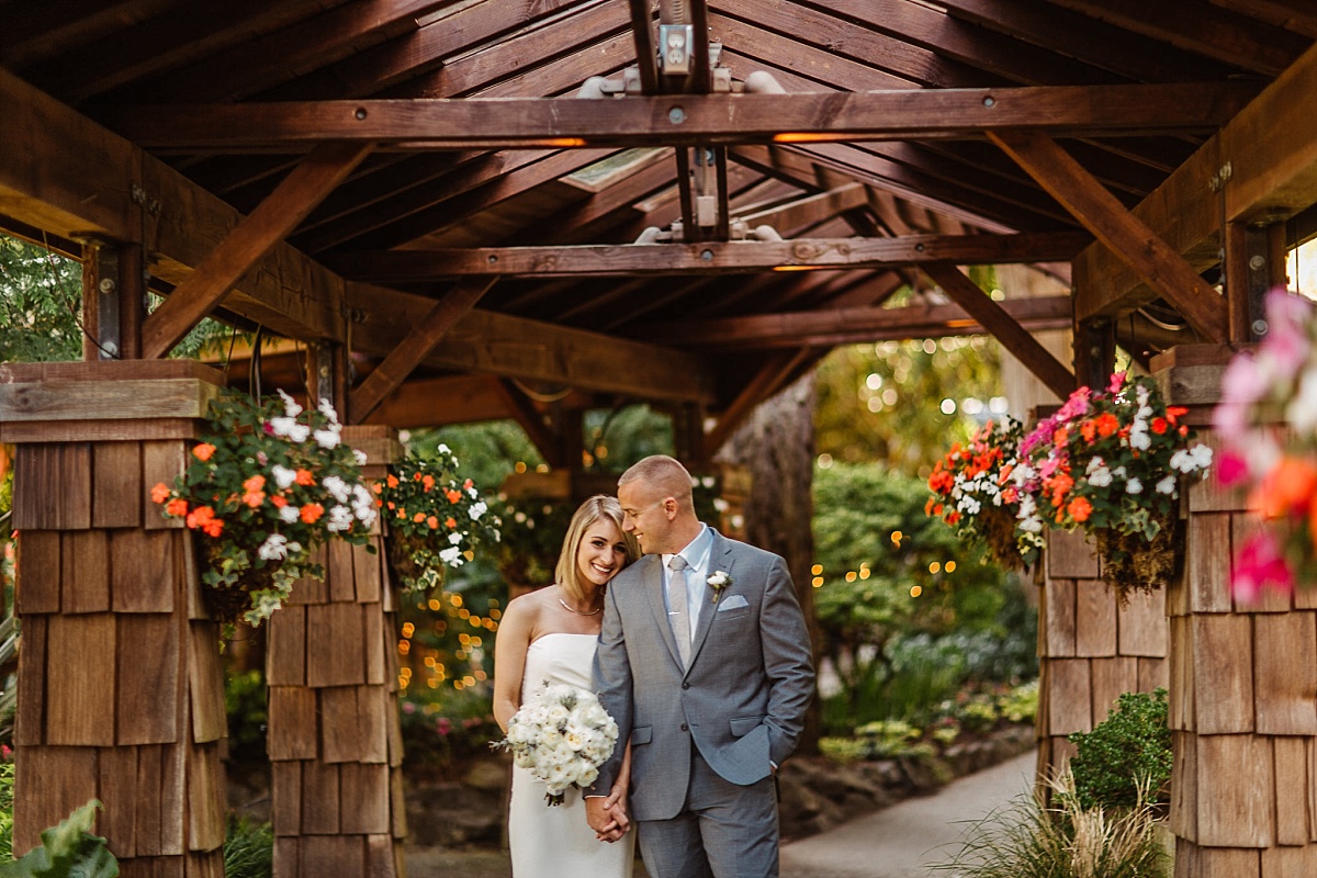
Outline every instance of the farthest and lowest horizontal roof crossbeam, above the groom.
[[[900, 283], [888, 283], [881, 288], [873, 288], [869, 297], [880, 296], [900, 286]], [[950, 291], [948, 295], [951, 295]], [[982, 292], [979, 292], [977, 297], [988, 299]], [[1069, 296], [1008, 299], [1002, 303], [989, 299], [989, 301], [1005, 319], [1026, 328], [1027, 332], [1064, 329], [1071, 325]], [[976, 301], [971, 304], [976, 304]], [[988, 325], [982, 320], [982, 315], [969, 311], [961, 304], [946, 304], [903, 305], [901, 308], [848, 307], [778, 315], [664, 321], [648, 324], [645, 333], [672, 338], [673, 344], [691, 348], [718, 345], [727, 350], [753, 350], [802, 345], [834, 346], [900, 338], [975, 336], [982, 334]]]

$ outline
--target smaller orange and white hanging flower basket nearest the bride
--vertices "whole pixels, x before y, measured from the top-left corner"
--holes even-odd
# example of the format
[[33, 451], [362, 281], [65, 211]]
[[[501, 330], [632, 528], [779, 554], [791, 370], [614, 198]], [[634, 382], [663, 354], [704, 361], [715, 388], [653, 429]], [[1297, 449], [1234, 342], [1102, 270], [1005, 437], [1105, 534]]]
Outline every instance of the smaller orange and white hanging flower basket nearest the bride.
[[444, 584], [448, 567], [461, 567], [481, 542], [498, 542], [498, 516], [471, 479], [458, 474], [446, 445], [432, 455], [407, 457], [370, 487], [389, 525], [386, 555], [404, 591]]

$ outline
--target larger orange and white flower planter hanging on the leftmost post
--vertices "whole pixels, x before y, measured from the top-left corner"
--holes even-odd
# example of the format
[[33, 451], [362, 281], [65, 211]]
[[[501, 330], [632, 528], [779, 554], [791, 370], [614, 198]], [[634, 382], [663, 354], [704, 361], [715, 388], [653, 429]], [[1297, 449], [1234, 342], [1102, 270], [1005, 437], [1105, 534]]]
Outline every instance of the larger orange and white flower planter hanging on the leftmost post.
[[367, 541], [377, 512], [361, 455], [340, 441], [331, 405], [227, 392], [211, 403], [202, 441], [174, 486], [151, 499], [202, 541], [207, 604], [223, 623], [259, 625], [298, 579], [324, 578], [312, 550], [325, 540]]

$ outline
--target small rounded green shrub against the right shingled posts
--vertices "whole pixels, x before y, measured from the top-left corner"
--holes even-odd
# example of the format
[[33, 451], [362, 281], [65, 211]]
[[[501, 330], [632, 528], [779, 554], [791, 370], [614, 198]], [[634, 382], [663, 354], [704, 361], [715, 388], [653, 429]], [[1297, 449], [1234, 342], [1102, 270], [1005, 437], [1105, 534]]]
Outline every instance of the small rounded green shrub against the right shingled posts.
[[1125, 692], [1092, 732], [1069, 736], [1075, 788], [1085, 808], [1134, 807], [1148, 790], [1152, 804], [1171, 800], [1171, 729], [1167, 692]]

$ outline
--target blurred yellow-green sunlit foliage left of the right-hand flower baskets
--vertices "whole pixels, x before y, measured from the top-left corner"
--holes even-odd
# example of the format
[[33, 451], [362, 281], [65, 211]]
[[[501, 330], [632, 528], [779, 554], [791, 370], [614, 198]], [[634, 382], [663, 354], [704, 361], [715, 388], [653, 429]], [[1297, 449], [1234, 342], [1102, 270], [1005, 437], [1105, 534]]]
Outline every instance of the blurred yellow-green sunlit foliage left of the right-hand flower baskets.
[[[927, 475], [951, 442], [979, 426], [964, 401], [1001, 392], [997, 344], [980, 337], [838, 348], [819, 363], [817, 387], [820, 455]], [[942, 412], [944, 399], [956, 403], [952, 415]]]

